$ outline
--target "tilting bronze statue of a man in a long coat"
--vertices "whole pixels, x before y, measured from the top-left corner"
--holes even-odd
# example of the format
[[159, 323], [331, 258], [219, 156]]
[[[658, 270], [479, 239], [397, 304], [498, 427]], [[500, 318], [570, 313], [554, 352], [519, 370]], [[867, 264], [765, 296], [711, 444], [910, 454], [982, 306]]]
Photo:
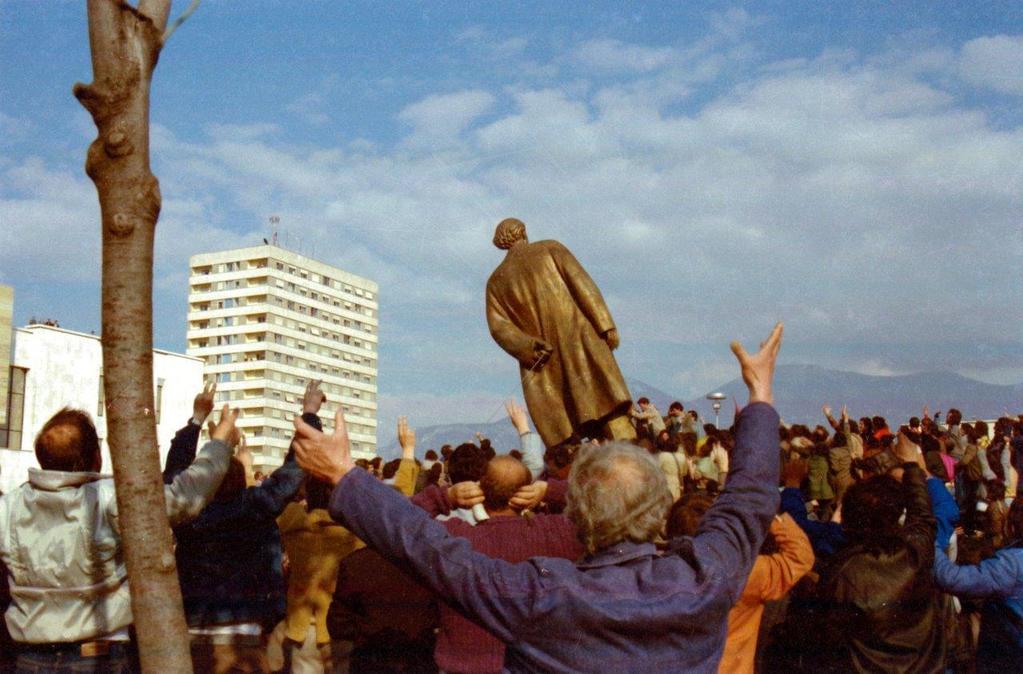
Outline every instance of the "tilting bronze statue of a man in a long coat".
[[522, 389], [547, 447], [580, 438], [631, 440], [629, 391], [612, 350], [618, 330], [601, 290], [558, 241], [530, 243], [526, 225], [497, 225], [504, 261], [487, 281], [487, 324], [519, 361]]

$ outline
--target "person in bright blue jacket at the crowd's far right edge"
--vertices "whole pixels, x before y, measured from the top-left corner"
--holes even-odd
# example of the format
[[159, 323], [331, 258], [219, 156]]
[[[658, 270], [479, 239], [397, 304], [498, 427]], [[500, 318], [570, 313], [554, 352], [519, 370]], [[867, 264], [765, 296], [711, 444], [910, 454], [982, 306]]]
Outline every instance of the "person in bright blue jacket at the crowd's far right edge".
[[943, 548], [934, 555], [934, 578], [946, 592], [986, 599], [977, 643], [978, 672], [1019, 671], [1023, 663], [1023, 499], [1009, 508], [1012, 543], [975, 566], [957, 566]]

